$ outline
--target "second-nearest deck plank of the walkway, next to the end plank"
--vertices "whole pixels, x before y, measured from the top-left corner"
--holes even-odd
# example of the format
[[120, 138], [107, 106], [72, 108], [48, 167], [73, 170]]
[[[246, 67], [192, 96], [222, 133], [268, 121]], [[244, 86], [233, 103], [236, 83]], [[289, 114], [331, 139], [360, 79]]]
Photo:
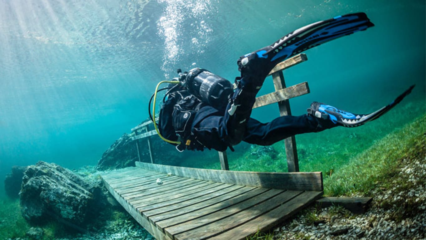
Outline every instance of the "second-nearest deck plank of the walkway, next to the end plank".
[[[197, 239], [199, 236], [203, 236], [203, 238], [213, 237], [223, 231], [230, 230], [239, 226], [245, 222], [248, 222], [260, 215], [263, 215], [273, 208], [276, 208], [285, 202], [293, 199], [294, 197], [302, 194], [303, 191], [285, 191], [280, 194], [277, 194], [270, 199], [259, 202], [256, 205], [251, 206], [245, 211], [240, 211], [236, 214], [233, 214], [224, 219], [218, 220], [216, 222], [209, 222], [207, 225], [201, 226], [199, 228], [195, 228], [190, 231], [185, 231], [180, 234], [176, 234], [175, 237], [177, 240], [183, 239]], [[229, 238], [235, 239], [235, 238]]]

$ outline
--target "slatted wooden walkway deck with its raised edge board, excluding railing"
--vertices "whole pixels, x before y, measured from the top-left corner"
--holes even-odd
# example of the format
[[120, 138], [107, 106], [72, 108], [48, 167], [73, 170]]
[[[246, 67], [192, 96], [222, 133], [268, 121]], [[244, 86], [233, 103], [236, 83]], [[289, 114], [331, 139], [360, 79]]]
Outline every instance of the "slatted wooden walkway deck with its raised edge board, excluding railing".
[[158, 240], [245, 239], [282, 223], [322, 195], [320, 172], [136, 165], [101, 176], [115, 199]]

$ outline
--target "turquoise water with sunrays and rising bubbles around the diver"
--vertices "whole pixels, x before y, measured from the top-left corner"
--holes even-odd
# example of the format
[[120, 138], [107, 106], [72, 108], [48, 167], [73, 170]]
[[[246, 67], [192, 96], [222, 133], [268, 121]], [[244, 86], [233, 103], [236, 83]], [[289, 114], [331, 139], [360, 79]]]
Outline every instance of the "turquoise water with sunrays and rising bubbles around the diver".
[[[39, 160], [95, 165], [147, 118], [155, 85], [177, 68], [233, 81], [240, 55], [351, 12], [376, 26], [310, 49], [309, 61], [285, 71], [287, 85], [311, 89], [291, 100], [292, 111], [322, 101], [368, 112], [417, 84], [397, 123], [391, 112], [375, 125], [389, 131], [425, 112], [424, 0], [0, 0], [0, 180], [12, 165]], [[266, 83], [262, 93], [272, 89]], [[279, 113], [268, 106], [253, 116]]]

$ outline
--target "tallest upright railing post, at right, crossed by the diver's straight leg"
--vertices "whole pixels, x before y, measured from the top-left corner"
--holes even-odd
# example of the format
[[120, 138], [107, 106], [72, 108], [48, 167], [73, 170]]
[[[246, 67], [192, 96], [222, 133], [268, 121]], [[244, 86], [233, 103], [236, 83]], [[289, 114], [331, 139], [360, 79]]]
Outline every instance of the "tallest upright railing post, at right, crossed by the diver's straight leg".
[[[285, 88], [284, 75], [282, 71], [274, 72], [272, 74], [273, 85], [275, 90], [281, 90]], [[289, 116], [291, 115], [290, 102], [288, 99], [278, 102], [279, 115], [280, 116]], [[298, 172], [299, 171], [299, 159], [297, 158], [297, 149], [296, 149], [296, 137], [291, 136], [284, 139], [285, 144], [285, 153], [287, 155], [287, 166], [289, 172]]]

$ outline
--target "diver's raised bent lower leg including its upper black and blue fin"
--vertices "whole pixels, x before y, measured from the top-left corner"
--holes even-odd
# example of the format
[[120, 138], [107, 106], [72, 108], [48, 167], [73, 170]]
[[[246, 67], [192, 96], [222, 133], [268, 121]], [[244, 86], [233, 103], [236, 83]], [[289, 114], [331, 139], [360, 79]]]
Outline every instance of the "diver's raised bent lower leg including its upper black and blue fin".
[[273, 44], [241, 56], [237, 89], [225, 112], [231, 145], [242, 141], [255, 97], [266, 76], [279, 62], [329, 40], [374, 26], [366, 14], [354, 13], [312, 23], [285, 35]]

